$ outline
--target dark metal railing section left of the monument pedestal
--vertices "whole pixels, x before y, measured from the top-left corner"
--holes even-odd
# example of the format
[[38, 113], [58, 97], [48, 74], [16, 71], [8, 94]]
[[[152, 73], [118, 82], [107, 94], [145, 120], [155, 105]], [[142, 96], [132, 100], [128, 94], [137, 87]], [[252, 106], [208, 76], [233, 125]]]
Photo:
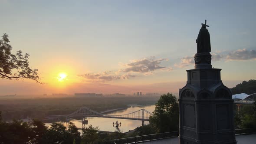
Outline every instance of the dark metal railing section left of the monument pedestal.
[[179, 135], [178, 131], [165, 132], [160, 134], [149, 134], [142, 135], [138, 137], [128, 137], [128, 138], [120, 138], [118, 141], [113, 140], [117, 144], [137, 144], [145, 141], [154, 141], [164, 138], [177, 137]]

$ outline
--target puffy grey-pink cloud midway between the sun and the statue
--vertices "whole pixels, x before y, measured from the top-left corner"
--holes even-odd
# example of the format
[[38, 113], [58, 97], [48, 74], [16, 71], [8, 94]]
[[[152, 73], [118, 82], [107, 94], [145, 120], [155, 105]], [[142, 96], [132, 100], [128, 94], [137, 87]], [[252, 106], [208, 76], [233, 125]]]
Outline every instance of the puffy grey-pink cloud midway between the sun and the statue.
[[166, 67], [161, 66], [162, 61], [167, 61], [168, 59], [155, 59], [154, 57], [136, 59], [128, 64], [125, 64], [127, 68], [121, 69], [120, 72], [138, 72], [138, 73], [148, 73], [157, 69], [166, 69]]

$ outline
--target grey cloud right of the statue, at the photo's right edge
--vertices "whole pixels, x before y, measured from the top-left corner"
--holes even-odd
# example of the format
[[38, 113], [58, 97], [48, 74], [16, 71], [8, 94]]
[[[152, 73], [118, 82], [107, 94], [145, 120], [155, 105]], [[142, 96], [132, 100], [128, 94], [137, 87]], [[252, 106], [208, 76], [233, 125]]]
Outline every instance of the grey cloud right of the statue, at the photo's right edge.
[[256, 50], [238, 49], [226, 55], [227, 60], [250, 60], [256, 59]]

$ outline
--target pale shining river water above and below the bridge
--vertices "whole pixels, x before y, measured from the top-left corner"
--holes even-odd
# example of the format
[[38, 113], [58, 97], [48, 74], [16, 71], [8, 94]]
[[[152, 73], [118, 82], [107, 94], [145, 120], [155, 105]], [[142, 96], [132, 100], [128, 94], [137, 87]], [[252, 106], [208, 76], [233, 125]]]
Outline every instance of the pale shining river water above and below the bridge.
[[[138, 111], [142, 108], [144, 108], [149, 112], [153, 112], [155, 109], [155, 105], [133, 106], [125, 110], [109, 112], [108, 115], [124, 115], [134, 111]], [[137, 120], [116, 119], [116, 118], [93, 118], [93, 117], [87, 117], [86, 119], [88, 120], [88, 124], [86, 124], [85, 127], [88, 127], [90, 124], [92, 124], [93, 127], [98, 126], [100, 131], [115, 131], [116, 128], [114, 128], [112, 125], [112, 123], [113, 122], [115, 123], [115, 121], [122, 123], [121, 127], [119, 128], [122, 132], [127, 132], [129, 130], [133, 130], [141, 126], [141, 121], [137, 121]], [[72, 122], [75, 124], [76, 127], [82, 128], [82, 118], [72, 120]], [[45, 124], [46, 126], [50, 126], [50, 123], [45, 123]], [[68, 124], [66, 122], [62, 122], [62, 124], [68, 127]], [[145, 124], [148, 124], [148, 121], [145, 121]]]

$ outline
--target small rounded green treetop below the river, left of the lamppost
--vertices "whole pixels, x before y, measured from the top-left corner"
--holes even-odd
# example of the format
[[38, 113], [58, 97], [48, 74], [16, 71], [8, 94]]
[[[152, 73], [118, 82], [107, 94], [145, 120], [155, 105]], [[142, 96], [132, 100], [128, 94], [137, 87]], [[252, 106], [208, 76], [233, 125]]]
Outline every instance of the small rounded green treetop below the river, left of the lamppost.
[[93, 144], [98, 139], [98, 130], [98, 127], [92, 127], [92, 125], [83, 129], [82, 141], [85, 141], [85, 144]]

